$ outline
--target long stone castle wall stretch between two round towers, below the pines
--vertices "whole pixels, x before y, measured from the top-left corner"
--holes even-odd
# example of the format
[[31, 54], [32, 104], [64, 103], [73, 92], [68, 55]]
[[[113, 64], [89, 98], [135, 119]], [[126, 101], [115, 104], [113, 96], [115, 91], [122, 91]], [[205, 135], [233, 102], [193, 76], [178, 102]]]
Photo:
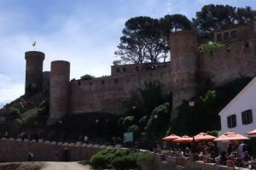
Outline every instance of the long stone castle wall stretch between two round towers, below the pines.
[[70, 82], [70, 112], [72, 114], [89, 112], [124, 114], [125, 102], [131, 97], [131, 91], [143, 88], [144, 82], [157, 80], [166, 93], [170, 92], [172, 87], [170, 77], [170, 67], [164, 67], [137, 74], [72, 81]]

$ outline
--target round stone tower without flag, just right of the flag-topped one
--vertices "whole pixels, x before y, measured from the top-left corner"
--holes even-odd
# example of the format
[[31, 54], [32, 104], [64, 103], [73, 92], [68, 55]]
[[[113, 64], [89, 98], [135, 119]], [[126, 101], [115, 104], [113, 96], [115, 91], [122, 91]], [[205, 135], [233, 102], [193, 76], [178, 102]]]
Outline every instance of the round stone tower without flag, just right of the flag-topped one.
[[50, 65], [49, 81], [49, 121], [48, 124], [61, 121], [67, 115], [69, 97], [70, 64], [55, 60]]

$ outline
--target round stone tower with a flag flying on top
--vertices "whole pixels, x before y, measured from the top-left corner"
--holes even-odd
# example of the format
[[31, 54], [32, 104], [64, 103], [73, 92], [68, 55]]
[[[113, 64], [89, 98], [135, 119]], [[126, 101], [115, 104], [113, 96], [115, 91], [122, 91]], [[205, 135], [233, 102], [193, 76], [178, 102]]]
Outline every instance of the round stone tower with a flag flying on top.
[[26, 59], [26, 82], [25, 94], [29, 91], [29, 86], [41, 90], [43, 81], [44, 53], [39, 51], [28, 51], [25, 53]]

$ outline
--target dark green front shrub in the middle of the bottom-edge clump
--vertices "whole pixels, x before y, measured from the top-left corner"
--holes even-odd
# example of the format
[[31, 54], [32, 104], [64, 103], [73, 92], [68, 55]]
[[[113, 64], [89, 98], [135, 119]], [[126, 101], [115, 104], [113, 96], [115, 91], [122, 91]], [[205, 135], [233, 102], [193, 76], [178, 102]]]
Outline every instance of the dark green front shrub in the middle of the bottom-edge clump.
[[137, 157], [134, 154], [115, 157], [111, 163], [115, 169], [134, 169], [137, 168]]

